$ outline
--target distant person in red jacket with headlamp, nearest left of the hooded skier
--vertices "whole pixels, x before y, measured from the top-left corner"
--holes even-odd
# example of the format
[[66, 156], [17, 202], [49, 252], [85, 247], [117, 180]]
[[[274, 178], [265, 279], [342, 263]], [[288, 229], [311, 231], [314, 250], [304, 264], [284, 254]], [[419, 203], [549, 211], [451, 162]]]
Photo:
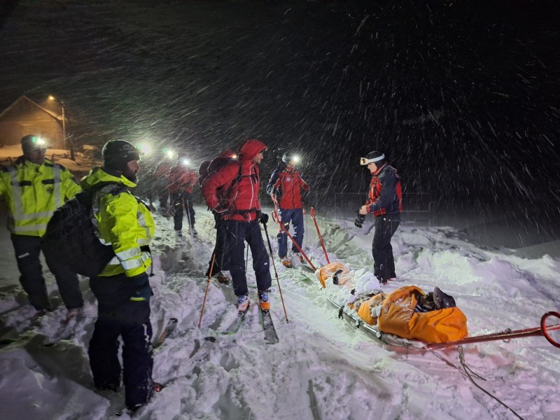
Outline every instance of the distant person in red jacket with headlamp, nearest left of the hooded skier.
[[191, 235], [197, 235], [195, 229], [195, 209], [193, 209], [193, 188], [198, 181], [196, 172], [188, 167], [186, 154], [179, 153], [177, 165], [169, 169], [168, 187], [173, 209], [173, 223], [177, 236], [183, 236], [183, 208], [188, 218]]

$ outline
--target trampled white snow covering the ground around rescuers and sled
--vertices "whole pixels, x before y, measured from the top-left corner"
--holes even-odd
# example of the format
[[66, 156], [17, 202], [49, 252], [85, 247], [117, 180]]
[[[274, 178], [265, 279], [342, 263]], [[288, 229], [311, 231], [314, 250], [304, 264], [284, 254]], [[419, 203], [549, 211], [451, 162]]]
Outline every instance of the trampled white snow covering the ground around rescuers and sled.
[[[175, 317], [179, 326], [155, 351], [154, 379], [167, 384], [142, 408], [137, 419], [512, 419], [515, 415], [468, 379], [456, 349], [407, 351], [381, 345], [363, 330], [337, 317], [314, 274], [278, 264], [289, 323], [273, 276], [272, 318], [279, 343], [267, 345], [256, 305], [236, 335], [219, 335], [201, 363], [190, 356], [209, 334], [235, 319], [231, 286], [212, 282], [202, 328], [207, 280], [204, 271], [214, 241], [213, 218], [197, 211], [197, 239], [174, 236], [172, 221], [156, 214], [154, 241], [155, 335]], [[372, 278], [370, 223], [357, 230], [350, 221], [318, 216], [331, 261], [343, 262], [360, 277], [358, 291], [378, 287]], [[274, 251], [276, 227], [269, 223]], [[313, 222], [306, 216], [304, 250], [325, 264]], [[263, 232], [264, 235], [264, 232]], [[2, 328], [23, 332], [0, 350], [0, 407], [4, 419], [115, 418], [121, 394], [96, 391], [87, 361], [96, 302], [87, 290], [85, 314], [64, 325], [59, 307], [31, 326], [31, 309], [17, 286], [18, 272], [6, 230], [0, 236], [3, 288]], [[505, 328], [538, 326], [540, 316], [558, 310], [560, 261], [542, 255], [527, 259], [492, 251], [462, 239], [450, 227], [401, 225], [393, 237], [400, 282], [423, 290], [440, 286], [468, 317], [469, 335]], [[544, 251], [544, 250], [543, 250]], [[249, 255], [248, 267], [251, 267]], [[359, 271], [358, 271], [359, 270]], [[250, 284], [254, 276], [249, 269]], [[273, 273], [274, 274], [274, 273]], [[8, 280], [9, 278], [9, 280]], [[52, 300], [59, 303], [49, 277]], [[251, 289], [256, 300], [256, 289]], [[6, 330], [3, 330], [4, 332]], [[57, 339], [71, 335], [68, 340]], [[52, 344], [46, 345], [45, 344]], [[486, 391], [524, 419], [558, 419], [556, 396], [560, 349], [544, 337], [465, 346], [466, 365]], [[471, 373], [472, 374], [472, 373]], [[127, 418], [123, 414], [120, 418]]]

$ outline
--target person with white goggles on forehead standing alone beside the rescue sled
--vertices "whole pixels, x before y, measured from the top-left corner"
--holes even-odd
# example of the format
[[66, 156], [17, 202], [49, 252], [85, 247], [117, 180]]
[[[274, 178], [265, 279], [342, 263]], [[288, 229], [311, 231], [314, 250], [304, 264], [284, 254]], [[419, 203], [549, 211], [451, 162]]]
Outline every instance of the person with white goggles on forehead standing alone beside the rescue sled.
[[402, 188], [397, 170], [387, 164], [381, 152], [368, 153], [360, 158], [360, 165], [367, 165], [372, 173], [367, 201], [360, 207], [354, 224], [361, 228], [365, 215], [373, 214], [375, 232], [373, 235], [372, 254], [374, 275], [379, 283], [387, 284], [395, 279], [395, 259], [391, 238], [400, 224], [402, 211]]

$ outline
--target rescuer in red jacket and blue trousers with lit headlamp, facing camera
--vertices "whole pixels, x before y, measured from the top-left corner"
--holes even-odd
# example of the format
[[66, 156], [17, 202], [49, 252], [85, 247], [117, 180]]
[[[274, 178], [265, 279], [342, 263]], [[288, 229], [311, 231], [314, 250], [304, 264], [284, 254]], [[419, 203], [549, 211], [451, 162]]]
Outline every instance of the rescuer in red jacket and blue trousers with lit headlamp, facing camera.
[[[300, 172], [295, 169], [298, 162], [297, 155], [284, 153], [281, 165], [270, 176], [267, 193], [277, 204], [280, 221], [286, 230], [290, 229], [290, 221], [292, 222], [293, 239], [301, 248], [304, 233], [302, 190], [309, 191], [309, 186], [303, 181]], [[283, 229], [280, 229], [277, 237], [278, 256], [284, 266], [291, 267], [292, 264], [288, 258], [288, 235]], [[292, 245], [292, 251], [303, 262], [303, 257], [295, 244]]]

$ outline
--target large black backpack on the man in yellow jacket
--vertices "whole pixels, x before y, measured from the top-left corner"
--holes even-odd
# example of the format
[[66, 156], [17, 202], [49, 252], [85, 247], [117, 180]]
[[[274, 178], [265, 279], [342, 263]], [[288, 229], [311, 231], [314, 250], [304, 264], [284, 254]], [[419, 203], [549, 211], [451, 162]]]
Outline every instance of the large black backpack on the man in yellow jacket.
[[59, 207], [50, 218], [41, 239], [41, 249], [49, 265], [65, 265], [87, 277], [97, 276], [115, 257], [113, 246], [103, 245], [94, 233], [90, 211], [97, 190], [112, 185], [108, 192], [126, 190], [119, 183], [100, 183], [90, 190], [80, 191]]

